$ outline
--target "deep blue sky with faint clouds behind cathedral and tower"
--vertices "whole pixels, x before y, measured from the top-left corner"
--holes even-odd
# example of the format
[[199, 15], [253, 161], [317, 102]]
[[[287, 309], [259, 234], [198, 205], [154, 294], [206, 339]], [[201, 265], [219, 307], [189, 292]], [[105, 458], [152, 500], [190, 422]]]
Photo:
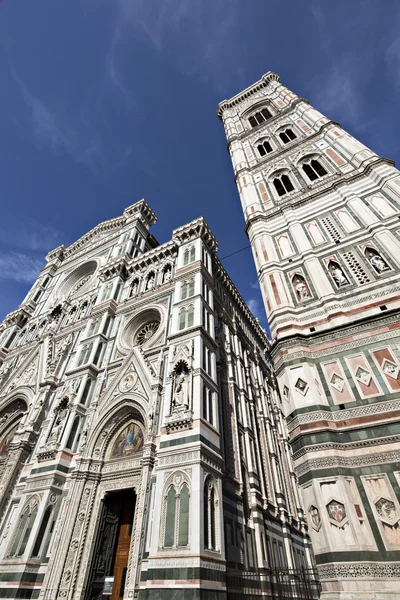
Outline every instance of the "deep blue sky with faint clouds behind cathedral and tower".
[[[144, 197], [160, 242], [203, 215], [247, 245], [218, 102], [268, 70], [400, 156], [396, 0], [2, 0], [0, 319], [44, 266]], [[251, 252], [224, 261], [262, 319]]]

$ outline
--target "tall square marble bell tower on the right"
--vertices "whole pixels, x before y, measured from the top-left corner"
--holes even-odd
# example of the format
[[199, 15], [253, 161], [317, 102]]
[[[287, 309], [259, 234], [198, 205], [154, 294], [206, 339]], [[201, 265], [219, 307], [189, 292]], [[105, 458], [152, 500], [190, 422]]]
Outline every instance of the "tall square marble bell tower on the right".
[[218, 107], [326, 599], [400, 584], [400, 175], [265, 74]]

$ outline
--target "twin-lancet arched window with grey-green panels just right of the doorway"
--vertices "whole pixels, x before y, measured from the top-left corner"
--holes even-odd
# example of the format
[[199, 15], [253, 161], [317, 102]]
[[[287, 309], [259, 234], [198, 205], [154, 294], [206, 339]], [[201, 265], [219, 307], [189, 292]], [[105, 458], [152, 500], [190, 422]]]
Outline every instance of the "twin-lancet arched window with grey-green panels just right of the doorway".
[[189, 511], [190, 492], [188, 484], [183, 481], [178, 487], [177, 481], [181, 476], [174, 477], [174, 484], [168, 487], [165, 497], [164, 519], [164, 548], [176, 548], [189, 544]]

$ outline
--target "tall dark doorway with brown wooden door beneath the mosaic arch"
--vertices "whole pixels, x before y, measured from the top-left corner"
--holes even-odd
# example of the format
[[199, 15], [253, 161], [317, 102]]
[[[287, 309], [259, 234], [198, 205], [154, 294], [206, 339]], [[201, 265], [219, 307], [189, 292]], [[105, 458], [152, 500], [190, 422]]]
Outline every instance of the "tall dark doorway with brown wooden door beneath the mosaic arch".
[[102, 598], [104, 580], [114, 577], [110, 600], [124, 596], [136, 494], [127, 489], [109, 492], [102, 502], [86, 600]]

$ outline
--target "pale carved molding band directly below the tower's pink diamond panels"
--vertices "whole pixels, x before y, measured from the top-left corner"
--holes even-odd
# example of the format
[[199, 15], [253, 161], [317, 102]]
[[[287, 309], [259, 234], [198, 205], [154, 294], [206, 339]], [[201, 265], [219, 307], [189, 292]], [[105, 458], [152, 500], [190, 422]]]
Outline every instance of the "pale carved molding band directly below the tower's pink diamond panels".
[[357, 417], [365, 417], [376, 415], [379, 413], [391, 412], [400, 409], [400, 399], [388, 400], [387, 402], [377, 402], [375, 404], [364, 404], [347, 410], [337, 410], [330, 412], [329, 410], [318, 410], [301, 415], [297, 415], [291, 421], [287, 422], [288, 431], [291, 432], [299, 425], [315, 423], [317, 421], [347, 421]]

